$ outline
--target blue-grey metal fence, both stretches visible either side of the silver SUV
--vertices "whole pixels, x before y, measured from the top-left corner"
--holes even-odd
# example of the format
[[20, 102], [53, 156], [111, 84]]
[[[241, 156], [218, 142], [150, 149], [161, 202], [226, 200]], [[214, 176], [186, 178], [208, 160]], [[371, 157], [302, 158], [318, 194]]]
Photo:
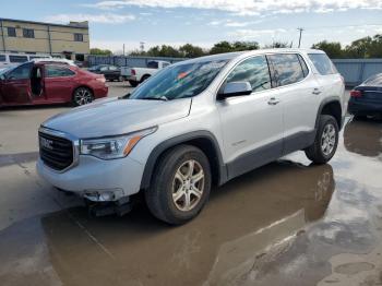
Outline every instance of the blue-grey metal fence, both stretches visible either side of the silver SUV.
[[[89, 67], [96, 64], [115, 64], [118, 67], [145, 68], [151, 60], [165, 60], [171, 63], [186, 58], [166, 57], [123, 57], [123, 56], [88, 56]], [[355, 86], [375, 73], [382, 73], [382, 59], [333, 59], [339, 73], [348, 86]]]

